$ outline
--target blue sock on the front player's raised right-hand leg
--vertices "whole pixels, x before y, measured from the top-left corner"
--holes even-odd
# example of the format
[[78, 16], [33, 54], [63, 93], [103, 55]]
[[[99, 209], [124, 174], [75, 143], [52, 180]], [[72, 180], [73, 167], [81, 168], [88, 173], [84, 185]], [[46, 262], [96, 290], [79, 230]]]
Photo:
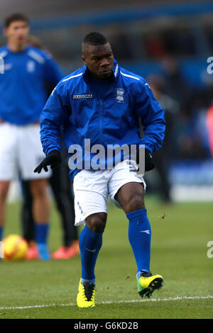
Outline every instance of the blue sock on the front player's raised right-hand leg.
[[[151, 259], [151, 225], [146, 209], [138, 209], [126, 214], [129, 219], [129, 242], [136, 259], [138, 273], [150, 271]], [[138, 277], [138, 274], [137, 274]]]

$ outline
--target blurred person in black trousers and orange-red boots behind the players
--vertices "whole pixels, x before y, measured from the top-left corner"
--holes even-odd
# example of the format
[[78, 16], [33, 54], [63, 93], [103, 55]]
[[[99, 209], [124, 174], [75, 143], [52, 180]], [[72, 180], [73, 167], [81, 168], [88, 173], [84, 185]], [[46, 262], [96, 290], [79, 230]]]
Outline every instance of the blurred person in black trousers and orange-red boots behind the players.
[[[46, 50], [42, 43], [40, 43], [40, 40], [33, 35], [28, 36], [28, 44]], [[46, 82], [45, 87], [48, 95], [54, 88], [51, 82]], [[62, 145], [62, 164], [53, 169], [49, 179], [58, 212], [61, 215], [63, 232], [62, 246], [52, 254], [53, 259], [70, 259], [80, 253], [77, 227], [75, 227], [74, 196], [68, 172], [68, 154], [64, 145]], [[23, 237], [27, 240], [29, 247], [31, 247], [31, 251], [28, 252], [28, 259], [37, 259], [38, 249], [35, 244], [35, 223], [33, 219], [33, 198], [31, 195], [30, 181], [22, 181], [22, 188], [23, 205], [21, 221]]]

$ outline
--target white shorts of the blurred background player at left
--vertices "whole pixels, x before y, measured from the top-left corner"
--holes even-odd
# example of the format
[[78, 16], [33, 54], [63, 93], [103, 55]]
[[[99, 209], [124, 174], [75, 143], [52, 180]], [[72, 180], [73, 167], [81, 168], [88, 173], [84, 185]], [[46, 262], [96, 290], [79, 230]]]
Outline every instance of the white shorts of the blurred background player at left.
[[40, 125], [0, 124], [0, 181], [49, 178], [51, 171], [34, 169], [45, 158], [40, 142]]

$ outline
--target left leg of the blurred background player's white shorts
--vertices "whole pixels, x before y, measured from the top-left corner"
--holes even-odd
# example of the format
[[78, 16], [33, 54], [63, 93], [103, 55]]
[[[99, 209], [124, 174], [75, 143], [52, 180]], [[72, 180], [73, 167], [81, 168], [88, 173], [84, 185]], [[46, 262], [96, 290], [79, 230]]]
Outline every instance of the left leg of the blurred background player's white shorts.
[[17, 140], [16, 126], [0, 124], [0, 181], [17, 178]]

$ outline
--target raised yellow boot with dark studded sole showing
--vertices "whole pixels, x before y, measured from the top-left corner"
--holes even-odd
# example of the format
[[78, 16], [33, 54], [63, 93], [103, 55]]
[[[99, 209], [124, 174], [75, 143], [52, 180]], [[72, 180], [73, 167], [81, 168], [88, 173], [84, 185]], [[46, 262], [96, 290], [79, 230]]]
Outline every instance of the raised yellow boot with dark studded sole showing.
[[141, 276], [138, 278], [138, 294], [143, 298], [150, 298], [153, 291], [163, 287], [163, 276], [152, 275], [146, 271], [141, 271]]

